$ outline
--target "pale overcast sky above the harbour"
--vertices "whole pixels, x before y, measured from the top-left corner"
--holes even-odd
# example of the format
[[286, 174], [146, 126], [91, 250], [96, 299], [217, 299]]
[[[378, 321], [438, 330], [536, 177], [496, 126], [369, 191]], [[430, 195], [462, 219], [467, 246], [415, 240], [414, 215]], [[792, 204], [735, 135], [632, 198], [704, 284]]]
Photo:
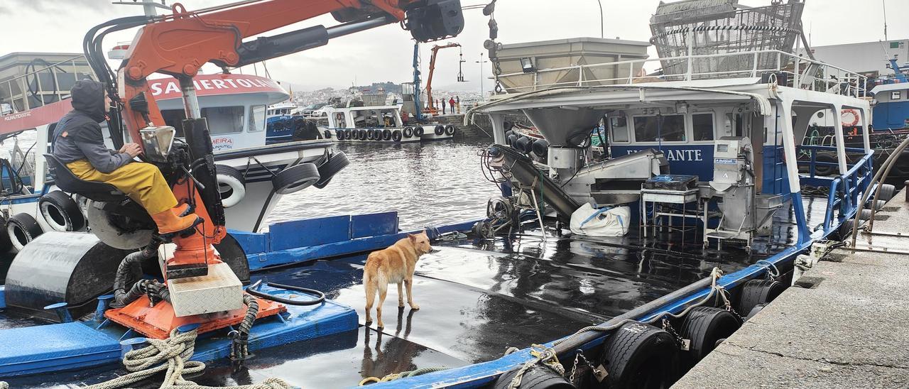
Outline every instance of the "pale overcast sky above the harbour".
[[[128, 1], [128, 0], [127, 0]], [[160, 1], [160, 0], [158, 0]], [[301, 0], [305, 1], [305, 0]], [[230, 0], [182, 0], [187, 9], [229, 3]], [[477, 5], [486, 0], [462, 0]], [[885, 0], [890, 39], [909, 38], [909, 1]], [[10, 52], [81, 51], [85, 32], [106, 20], [138, 15], [141, 6], [111, 5], [109, 0], [0, 0], [0, 55]], [[648, 21], [658, 0], [602, 0], [604, 35], [646, 41]], [[768, 5], [769, 0], [743, 0], [745, 5]], [[173, 4], [167, 0], [167, 4]], [[464, 11], [464, 33], [450, 39], [463, 46], [464, 76], [456, 83], [458, 49], [439, 52], [434, 85], [442, 89], [479, 90], [480, 53], [488, 37], [488, 18], [480, 10]], [[595, 0], [499, 0], [495, 19], [499, 42], [504, 44], [576, 36], [599, 36], [600, 14]], [[884, 39], [884, 13], [880, 0], [806, 0], [804, 28], [813, 45], [835, 45]], [[335, 25], [330, 15], [275, 30], [277, 33], [310, 25]], [[105, 49], [117, 41], [128, 41], [132, 32], [109, 35]], [[272, 34], [269, 34], [272, 35]], [[424, 75], [428, 48], [423, 45]], [[386, 25], [355, 35], [336, 38], [323, 47], [268, 61], [272, 78], [297, 87], [313, 89], [333, 86], [368, 85], [373, 82], [410, 81], [413, 78], [413, 40], [398, 25]], [[485, 55], [485, 54], [484, 54]], [[651, 55], [655, 55], [651, 49]], [[485, 64], [484, 77], [491, 68]], [[253, 69], [245, 69], [252, 73]], [[259, 68], [260, 75], [262, 69]], [[488, 91], [491, 80], [485, 80]]]

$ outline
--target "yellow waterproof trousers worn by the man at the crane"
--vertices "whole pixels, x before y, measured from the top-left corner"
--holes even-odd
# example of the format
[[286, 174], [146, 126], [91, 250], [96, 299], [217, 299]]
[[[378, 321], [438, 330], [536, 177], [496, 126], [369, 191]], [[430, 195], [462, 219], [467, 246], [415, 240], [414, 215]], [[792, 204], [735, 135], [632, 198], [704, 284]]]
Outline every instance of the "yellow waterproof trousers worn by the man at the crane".
[[176, 206], [174, 193], [155, 165], [131, 162], [111, 173], [101, 173], [87, 160], [80, 159], [66, 164], [66, 167], [82, 180], [116, 186], [120, 192], [142, 205], [148, 214], [160, 214]]

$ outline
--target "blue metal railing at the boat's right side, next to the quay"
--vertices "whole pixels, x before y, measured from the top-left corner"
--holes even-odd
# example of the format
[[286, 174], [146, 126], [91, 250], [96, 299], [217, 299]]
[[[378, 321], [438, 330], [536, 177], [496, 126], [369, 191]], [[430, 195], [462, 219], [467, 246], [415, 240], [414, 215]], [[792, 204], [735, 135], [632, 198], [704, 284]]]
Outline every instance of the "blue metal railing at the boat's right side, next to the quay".
[[[817, 152], [836, 152], [835, 146], [803, 145], [800, 149], [811, 153], [809, 161], [799, 161], [799, 164], [807, 164], [809, 166], [810, 178], [816, 178], [814, 168], [817, 165], [839, 165], [833, 162], [817, 161]], [[860, 201], [859, 196], [868, 190], [868, 184], [874, 174], [874, 150], [865, 152], [862, 148], [846, 147], [845, 152], [863, 156], [844, 174], [829, 180], [827, 209], [824, 214], [824, 224], [821, 224], [821, 227], [824, 228], [824, 234], [831, 232], [834, 220], [843, 223], [846, 219], [852, 217], [856, 210], [862, 208], [861, 204], [857, 204]]]

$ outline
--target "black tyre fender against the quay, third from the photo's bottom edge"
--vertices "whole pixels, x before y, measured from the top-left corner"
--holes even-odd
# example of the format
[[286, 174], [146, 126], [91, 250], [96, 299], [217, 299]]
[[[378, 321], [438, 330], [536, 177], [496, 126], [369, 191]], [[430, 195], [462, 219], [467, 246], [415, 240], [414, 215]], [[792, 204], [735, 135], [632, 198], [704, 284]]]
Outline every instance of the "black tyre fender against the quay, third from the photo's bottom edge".
[[682, 324], [679, 335], [688, 339], [688, 353], [685, 353], [689, 367], [697, 364], [711, 351], [716, 343], [733, 334], [742, 323], [732, 312], [713, 306], [699, 306], [691, 310]]

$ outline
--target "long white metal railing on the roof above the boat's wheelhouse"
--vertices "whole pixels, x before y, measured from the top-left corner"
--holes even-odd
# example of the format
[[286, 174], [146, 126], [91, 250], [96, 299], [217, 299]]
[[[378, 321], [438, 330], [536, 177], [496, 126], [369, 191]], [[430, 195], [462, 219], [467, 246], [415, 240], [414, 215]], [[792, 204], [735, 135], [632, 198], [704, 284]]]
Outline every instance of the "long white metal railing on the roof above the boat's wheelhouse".
[[[764, 68], [758, 66], [763, 55], [774, 55], [775, 66], [771, 68]], [[747, 69], [731, 69], [731, 70], [712, 70], [712, 71], [694, 71], [693, 65], [694, 61], [702, 59], [730, 59], [734, 57], [746, 57], [750, 62], [751, 66]], [[648, 63], [659, 63], [666, 60], [686, 60], [687, 69], [684, 74], [677, 75], [664, 75], [665, 78], [670, 78], [672, 81], [692, 81], [694, 79], [724, 79], [724, 78], [739, 78], [739, 77], [759, 77], [764, 74], [772, 73], [776, 75], [785, 74], [786, 81], [780, 85], [798, 87], [801, 89], [820, 91], [825, 93], [832, 93], [835, 95], [851, 95], [854, 97], [865, 97], [866, 96], [866, 83], [867, 77], [860, 75], [858, 73], [846, 70], [842, 67], [835, 65], [824, 64], [820, 61], [815, 61], [813, 59], [804, 58], [799, 55], [794, 55], [792, 53], [786, 53], [780, 50], [756, 50], [750, 52], [742, 53], [724, 53], [724, 54], [711, 54], [711, 55], [684, 55], [668, 58], [647, 58], [647, 59], [635, 59], [635, 60], [626, 60], [626, 61], [617, 61], [601, 64], [591, 64], [591, 65], [573, 65], [573, 66], [564, 66], [564, 67], [554, 67], [548, 69], [538, 69], [534, 72], [534, 84], [533, 85], [523, 85], [523, 86], [511, 86], [507, 87], [514, 92], [530, 92], [536, 90], [543, 90], [552, 87], [558, 86], [591, 86], [591, 85], [603, 85], [603, 84], [634, 84], [635, 81], [652, 81], [654, 76], [650, 75], [634, 75], [635, 69], [641, 69], [645, 64]], [[734, 62], [734, 61], [733, 61]], [[615, 74], [619, 74], [621, 70], [626, 70], [627, 75], [621, 77], [611, 77], [611, 78], [584, 78], [584, 70], [604, 68], [608, 66], [615, 67]], [[791, 66], [791, 68], [790, 68]], [[627, 67], [627, 69], [625, 69]], [[538, 80], [542, 77], [539, 75], [545, 73], [553, 72], [566, 72], [566, 71], [576, 71], [577, 79], [574, 81], [564, 81], [550, 84], [537, 84], [535, 80]], [[592, 72], [591, 72], [592, 73]], [[624, 73], [624, 72], [622, 72]], [[528, 75], [526, 73], [509, 73], [505, 75], [498, 75], [498, 78], [506, 77], [516, 77], [520, 75]], [[661, 79], [661, 81], [667, 81], [666, 79]], [[777, 77], [777, 81], [779, 77]]]

